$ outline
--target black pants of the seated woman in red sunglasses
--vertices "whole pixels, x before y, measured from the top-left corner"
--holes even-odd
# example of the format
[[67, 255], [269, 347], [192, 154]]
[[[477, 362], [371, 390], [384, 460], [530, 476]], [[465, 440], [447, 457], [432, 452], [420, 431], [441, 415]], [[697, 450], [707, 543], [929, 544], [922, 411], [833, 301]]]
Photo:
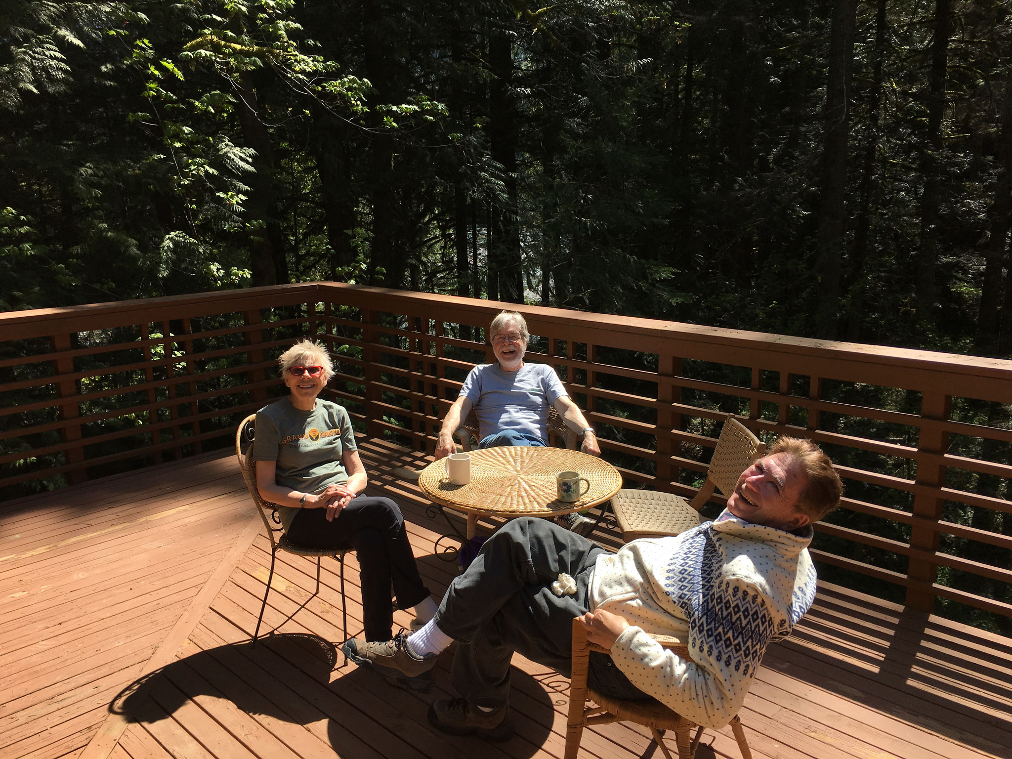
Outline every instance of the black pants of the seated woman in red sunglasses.
[[394, 637], [391, 584], [402, 609], [429, 597], [411, 553], [401, 509], [389, 498], [359, 496], [330, 522], [327, 509], [303, 509], [287, 535], [292, 542], [307, 547], [355, 550], [366, 641], [389, 641]]

